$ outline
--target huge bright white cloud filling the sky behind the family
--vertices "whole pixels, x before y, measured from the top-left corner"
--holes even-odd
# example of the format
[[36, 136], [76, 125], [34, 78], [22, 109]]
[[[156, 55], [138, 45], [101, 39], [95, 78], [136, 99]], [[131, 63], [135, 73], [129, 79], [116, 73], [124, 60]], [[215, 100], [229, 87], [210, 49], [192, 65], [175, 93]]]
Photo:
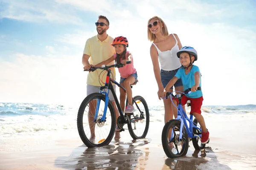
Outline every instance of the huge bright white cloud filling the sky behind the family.
[[[93, 11], [97, 15], [106, 15], [111, 23], [108, 34], [111, 37], [123, 35], [128, 38], [128, 50], [134, 56], [134, 65], [140, 81], [134, 86], [133, 93], [145, 97], [148, 104], [162, 105], [162, 101], [157, 99], [158, 89], [149, 54], [151, 42], [148, 42], [146, 32], [148, 19], [154, 15], [163, 18], [169, 33], [176, 33], [182, 45], [193, 46], [198, 51], [199, 59], [195, 65], [199, 66], [203, 75], [204, 105], [256, 104], [253, 99], [256, 94], [253, 84], [253, 80], [256, 79], [254, 74], [256, 71], [254, 67], [256, 31], [246, 26], [228, 25], [227, 18], [236, 16], [235, 12], [230, 12], [228, 6], [209, 5], [199, 1], [190, 3], [185, 0], [164, 2], [144, 0], [136, 3], [131, 0], [125, 2], [126, 6], [117, 4], [119, 8], [116, 8], [113, 1], [104, 0], [97, 1], [97, 3], [93, 1], [84, 3], [82, 0], [57, 0], [56, 2], [63, 6], [73, 6], [73, 9], [80, 11]], [[95, 18], [97, 19], [97, 16]], [[205, 21], [206, 18], [208, 18], [207, 21]], [[88, 24], [93, 26], [94, 22]], [[58, 44], [57, 49], [55, 45], [54, 47], [48, 45], [46, 47], [48, 57], [17, 54], [15, 63], [0, 63], [0, 70], [3, 69], [10, 73], [8, 74], [10, 76], [1, 77], [6, 80], [3, 82], [9, 81], [9, 84], [1, 84], [1, 89], [3, 87], [8, 89], [3, 91], [4, 96], [10, 96], [6, 93], [10, 92], [10, 87], [12, 87], [18, 94], [17, 96], [21, 97], [27, 96], [25, 92], [31, 89], [33, 91], [40, 89], [41, 92], [36, 93], [40, 93], [38, 96], [42, 96], [46, 101], [49, 96], [51, 100], [58, 99], [58, 101], [64, 99], [73, 101], [76, 98], [75, 94], [79, 96], [79, 99], [82, 98], [81, 96], [85, 95], [86, 73], [81, 71], [81, 55], [87, 38], [96, 35], [95, 26], [86, 28], [60, 35], [56, 40], [67, 43], [67, 46], [63, 47]], [[60, 49], [71, 47], [68, 44], [77, 46], [80, 51], [74, 52], [73, 57], [60, 57], [65, 56], [63, 55], [65, 50], [60, 54]], [[14, 68], [19, 68], [19, 71]], [[20, 82], [26, 80], [22, 82], [23, 91], [16, 90], [17, 86], [12, 82], [16, 78]], [[117, 80], [119, 80], [118, 74]], [[238, 95], [245, 93], [243, 90], [250, 92], [250, 95], [247, 99], [238, 100]], [[9, 97], [9, 99], [15, 98]], [[30, 98], [27, 97], [27, 101], [29, 99], [32, 99], [31, 95]], [[32, 101], [34, 100], [41, 99], [35, 97]]]

